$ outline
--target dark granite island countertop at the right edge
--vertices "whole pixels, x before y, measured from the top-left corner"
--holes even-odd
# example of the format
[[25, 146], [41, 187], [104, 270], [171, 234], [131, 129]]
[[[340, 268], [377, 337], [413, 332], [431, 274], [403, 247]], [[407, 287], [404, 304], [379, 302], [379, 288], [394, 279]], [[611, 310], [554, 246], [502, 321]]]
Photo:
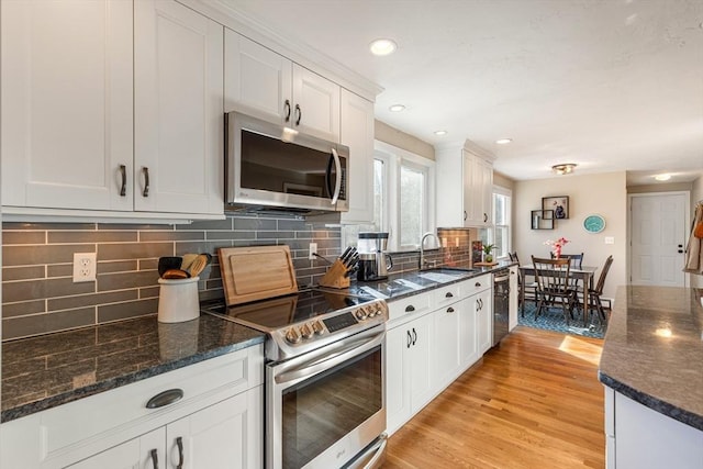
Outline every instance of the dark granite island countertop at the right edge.
[[703, 290], [621, 287], [599, 379], [628, 398], [703, 431]]

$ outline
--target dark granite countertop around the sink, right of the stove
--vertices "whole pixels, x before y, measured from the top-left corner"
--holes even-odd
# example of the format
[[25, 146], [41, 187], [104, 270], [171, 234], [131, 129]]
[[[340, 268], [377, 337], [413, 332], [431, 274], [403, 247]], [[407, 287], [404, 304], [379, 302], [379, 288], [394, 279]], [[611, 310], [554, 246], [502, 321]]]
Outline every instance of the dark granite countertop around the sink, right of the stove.
[[[394, 301], [433, 290], [445, 284], [451, 284], [473, 277], [491, 273], [494, 270], [504, 269], [513, 265], [516, 265], [516, 263], [503, 260], [499, 261], [495, 266], [473, 268], [471, 271], [462, 270], [469, 269], [470, 267], [458, 264], [436, 269], [390, 273], [388, 279], [384, 280], [366, 282], [354, 281], [352, 282], [348, 291], [352, 294], [377, 294], [378, 298], [382, 298], [386, 301]], [[372, 292], [369, 289], [371, 289]]]

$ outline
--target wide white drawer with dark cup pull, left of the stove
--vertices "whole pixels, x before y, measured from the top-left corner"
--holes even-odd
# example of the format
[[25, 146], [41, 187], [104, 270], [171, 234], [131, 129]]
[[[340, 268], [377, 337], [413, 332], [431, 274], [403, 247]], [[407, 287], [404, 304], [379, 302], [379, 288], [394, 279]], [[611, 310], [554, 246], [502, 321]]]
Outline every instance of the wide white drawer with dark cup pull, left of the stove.
[[[258, 345], [41, 412], [42, 460], [56, 458], [46, 465], [54, 467], [79, 448], [96, 454], [105, 449], [97, 444], [119, 444], [259, 386], [263, 371]], [[168, 390], [182, 391], [182, 398], [147, 409], [152, 398]]]

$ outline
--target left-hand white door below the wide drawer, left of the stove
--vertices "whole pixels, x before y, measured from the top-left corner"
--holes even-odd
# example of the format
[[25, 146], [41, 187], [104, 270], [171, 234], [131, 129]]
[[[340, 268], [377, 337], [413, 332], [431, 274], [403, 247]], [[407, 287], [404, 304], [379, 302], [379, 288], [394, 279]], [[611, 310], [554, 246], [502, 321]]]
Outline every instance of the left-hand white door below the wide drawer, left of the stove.
[[[68, 466], [71, 469], [150, 469], [166, 468], [164, 427]], [[174, 466], [175, 467], [175, 466]]]

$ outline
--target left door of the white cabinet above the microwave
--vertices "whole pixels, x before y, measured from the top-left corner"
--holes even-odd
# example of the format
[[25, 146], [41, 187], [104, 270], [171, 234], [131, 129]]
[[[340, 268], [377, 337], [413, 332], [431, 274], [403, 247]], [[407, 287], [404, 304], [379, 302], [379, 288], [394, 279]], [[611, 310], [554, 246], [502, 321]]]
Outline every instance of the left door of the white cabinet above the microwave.
[[224, 38], [225, 112], [290, 121], [292, 63], [232, 30], [225, 29]]

